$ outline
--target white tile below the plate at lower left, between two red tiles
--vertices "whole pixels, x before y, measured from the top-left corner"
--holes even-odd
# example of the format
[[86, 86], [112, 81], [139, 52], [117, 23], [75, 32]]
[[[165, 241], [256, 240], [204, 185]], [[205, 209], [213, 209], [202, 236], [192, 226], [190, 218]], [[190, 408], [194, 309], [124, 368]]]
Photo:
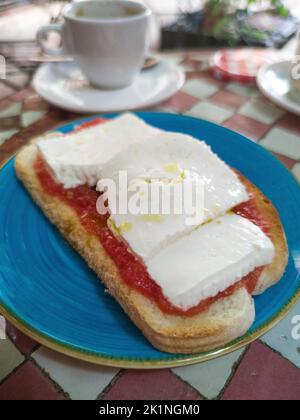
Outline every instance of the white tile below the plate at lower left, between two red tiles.
[[81, 362], [44, 347], [32, 357], [73, 400], [95, 400], [118, 373], [118, 369]]

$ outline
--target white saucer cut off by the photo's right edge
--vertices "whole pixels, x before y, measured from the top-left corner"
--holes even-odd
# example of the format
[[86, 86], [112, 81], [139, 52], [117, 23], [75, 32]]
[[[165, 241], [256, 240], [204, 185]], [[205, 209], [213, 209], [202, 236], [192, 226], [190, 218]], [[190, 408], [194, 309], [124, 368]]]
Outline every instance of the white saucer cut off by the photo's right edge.
[[290, 68], [290, 61], [268, 64], [260, 69], [257, 84], [270, 101], [300, 115], [300, 91], [293, 86]]

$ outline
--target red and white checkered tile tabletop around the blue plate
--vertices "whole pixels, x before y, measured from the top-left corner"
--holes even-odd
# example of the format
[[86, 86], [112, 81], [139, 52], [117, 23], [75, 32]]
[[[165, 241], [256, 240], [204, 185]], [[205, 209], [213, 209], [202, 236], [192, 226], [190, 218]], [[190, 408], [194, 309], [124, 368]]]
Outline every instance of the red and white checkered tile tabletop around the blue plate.
[[[273, 152], [300, 181], [300, 118], [268, 102], [255, 87], [213, 80], [207, 52], [169, 56], [187, 71], [182, 91], [156, 110], [201, 117], [241, 132]], [[0, 83], [0, 163], [72, 118], [49, 107], [26, 74]], [[226, 139], [224, 139], [226, 141]], [[50, 351], [7, 324], [0, 340], [0, 400], [6, 399], [300, 399], [300, 340], [287, 318], [251, 346], [218, 360], [159, 371], [128, 371], [79, 362]]]

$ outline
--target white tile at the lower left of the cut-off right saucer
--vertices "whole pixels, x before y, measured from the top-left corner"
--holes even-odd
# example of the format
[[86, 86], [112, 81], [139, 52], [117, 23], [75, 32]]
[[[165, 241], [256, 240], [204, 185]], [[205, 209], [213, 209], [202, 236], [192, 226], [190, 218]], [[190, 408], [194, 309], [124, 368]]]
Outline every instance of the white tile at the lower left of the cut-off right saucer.
[[285, 111], [261, 99], [253, 99], [247, 102], [239, 110], [239, 114], [249, 118], [253, 118], [264, 124], [274, 124], [280, 117], [285, 114]]

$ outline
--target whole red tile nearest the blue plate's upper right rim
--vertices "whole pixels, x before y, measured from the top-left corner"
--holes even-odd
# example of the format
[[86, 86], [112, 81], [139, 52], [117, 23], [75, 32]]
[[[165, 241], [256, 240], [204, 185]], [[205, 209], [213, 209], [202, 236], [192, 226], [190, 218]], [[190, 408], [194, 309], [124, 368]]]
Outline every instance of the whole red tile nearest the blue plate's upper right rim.
[[252, 118], [238, 114], [227, 120], [223, 125], [224, 127], [244, 134], [253, 140], [260, 140], [271, 129], [271, 126], [268, 124], [263, 124]]

